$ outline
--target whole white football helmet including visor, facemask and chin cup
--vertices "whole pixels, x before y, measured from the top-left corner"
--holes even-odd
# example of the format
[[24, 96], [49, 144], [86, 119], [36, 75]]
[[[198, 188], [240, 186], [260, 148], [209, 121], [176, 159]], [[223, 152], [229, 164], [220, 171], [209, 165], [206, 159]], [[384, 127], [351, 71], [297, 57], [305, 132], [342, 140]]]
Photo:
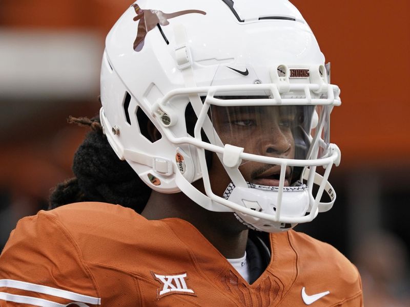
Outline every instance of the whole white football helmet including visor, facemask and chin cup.
[[[329, 124], [341, 102], [329, 81], [315, 36], [287, 0], [138, 0], [106, 40], [100, 120], [152, 189], [285, 231], [336, 199], [327, 179], [340, 150]], [[212, 176], [227, 178], [222, 192]], [[204, 193], [192, 185], [200, 178]]]

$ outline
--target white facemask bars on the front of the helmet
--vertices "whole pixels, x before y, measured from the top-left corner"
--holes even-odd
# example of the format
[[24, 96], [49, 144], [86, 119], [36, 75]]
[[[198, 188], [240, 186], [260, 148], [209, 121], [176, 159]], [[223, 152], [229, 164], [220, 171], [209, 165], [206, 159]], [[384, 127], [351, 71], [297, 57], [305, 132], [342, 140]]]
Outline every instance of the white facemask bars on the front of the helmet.
[[[329, 186], [327, 183], [327, 178], [329, 178], [329, 173], [331, 170], [331, 167], [333, 164], [337, 164], [340, 153], [339, 150], [337, 149], [337, 146], [332, 144], [333, 146], [330, 146], [329, 151], [330, 155], [327, 158], [323, 159], [313, 159], [313, 160], [293, 160], [293, 159], [282, 159], [282, 158], [273, 158], [273, 157], [263, 157], [263, 156], [258, 156], [258, 155], [253, 155], [250, 153], [244, 153], [240, 152], [236, 147], [233, 150], [233, 148], [229, 148], [228, 146], [221, 147], [222, 142], [215, 138], [214, 136], [216, 135], [214, 128], [212, 126], [212, 122], [208, 117], [208, 110], [210, 108], [211, 104], [214, 105], [219, 105], [219, 106], [237, 106], [237, 105], [257, 105], [257, 106], [263, 106], [263, 105], [340, 105], [340, 99], [338, 98], [339, 95], [339, 88], [336, 85], [331, 85], [328, 84], [326, 85], [325, 92], [327, 93], [326, 98], [312, 98], [311, 92], [312, 91], [318, 91], [319, 90], [319, 85], [318, 84], [290, 84], [290, 91], [304, 91], [305, 97], [304, 99], [294, 99], [294, 98], [284, 98], [282, 99], [279, 94], [279, 89], [276, 84], [249, 84], [249, 85], [221, 85], [221, 86], [207, 86], [207, 87], [190, 87], [190, 88], [184, 88], [184, 89], [176, 89], [170, 91], [165, 97], [162, 98], [161, 101], [159, 101], [157, 104], [153, 106], [153, 114], [156, 116], [161, 116], [163, 114], [171, 114], [171, 105], [170, 101], [176, 97], [176, 96], [188, 96], [192, 97], [195, 99], [190, 99], [191, 103], [193, 105], [194, 111], [197, 114], [198, 121], [195, 126], [194, 130], [194, 138], [189, 138], [189, 137], [175, 137], [170, 129], [163, 129], [165, 136], [174, 144], [191, 144], [197, 147], [198, 150], [198, 156], [199, 156], [199, 163], [201, 166], [201, 171], [202, 171], [202, 178], [204, 181], [204, 186], [206, 189], [206, 193], [208, 197], [216, 203], [222, 204], [233, 211], [239, 211], [244, 214], [249, 214], [253, 215], [255, 217], [261, 218], [266, 221], [272, 221], [272, 222], [284, 222], [284, 223], [304, 223], [304, 222], [309, 222], [312, 221], [313, 218], [317, 215], [317, 212], [322, 211], [319, 210], [319, 201], [320, 197], [324, 191], [324, 188]], [[272, 98], [268, 99], [232, 99], [232, 100], [221, 100], [215, 98], [215, 94], [220, 95], [220, 93], [224, 92], [247, 92], [249, 95], [249, 92], [252, 91], [268, 91], [271, 93]], [[336, 97], [335, 97], [336, 94]], [[203, 105], [200, 100], [200, 96], [206, 96], [206, 100], [204, 101]], [[201, 105], [197, 105], [195, 103], [196, 101], [200, 101]], [[198, 110], [199, 114], [198, 114]], [[172, 123], [172, 119], [171, 119]], [[203, 128], [205, 133], [207, 134], [208, 138], [213, 144], [209, 144], [206, 142], [203, 142], [200, 137], [200, 129]], [[320, 135], [320, 134], [318, 134]], [[317, 138], [319, 139], [319, 137]], [[316, 140], [317, 142], [317, 140]], [[219, 144], [219, 146], [218, 146]], [[231, 146], [235, 147], [235, 146]], [[228, 148], [228, 149], [227, 149]], [[240, 148], [239, 148], [240, 149]], [[207, 171], [207, 163], [204, 155], [204, 150], [210, 150], [215, 153], [217, 153], [218, 157], [222, 159], [224, 155], [236, 155], [237, 156], [237, 163], [240, 163], [242, 159], [248, 160], [248, 161], [255, 161], [255, 162], [261, 162], [261, 163], [267, 163], [267, 164], [275, 164], [275, 165], [280, 165], [281, 166], [281, 173], [280, 173], [280, 184], [279, 184], [279, 195], [278, 195], [278, 206], [277, 206], [277, 212], [275, 216], [261, 213], [261, 212], [255, 212], [251, 209], [242, 207], [240, 205], [237, 205], [233, 202], [224, 200], [218, 195], [215, 195], [212, 192], [211, 186], [210, 186], [210, 179], [209, 179], [209, 174]], [[239, 164], [238, 164], [239, 165]], [[225, 165], [226, 166], [226, 165]], [[283, 194], [283, 183], [284, 183], [284, 178], [285, 178], [285, 168], [286, 166], [300, 166], [300, 167], [310, 167], [309, 171], [309, 176], [308, 176], [308, 186], [312, 187], [314, 182], [319, 183], [321, 181], [321, 184], [319, 186], [319, 191], [316, 195], [316, 198], [313, 198], [312, 194], [310, 196], [311, 198], [311, 205], [310, 205], [310, 213], [308, 215], [305, 215], [303, 217], [283, 217], [280, 214], [280, 207], [281, 207], [281, 199], [282, 199], [282, 194]], [[323, 178], [317, 177], [315, 175], [315, 169], [316, 166], [323, 166], [326, 168], [326, 171], [324, 173]], [[244, 186], [245, 182], [243, 177], [240, 175], [240, 172], [238, 170], [238, 167], [226, 167], [227, 172], [229, 176], [233, 179], [234, 183], [236, 181], [239, 186]], [[240, 177], [238, 176], [240, 175]], [[183, 180], [180, 181], [181, 183]], [[188, 183], [188, 182], [187, 182]], [[188, 183], [189, 184], [189, 183]], [[189, 184], [190, 185], [190, 184]], [[192, 187], [192, 185], [191, 185]], [[180, 187], [182, 191], [188, 190], [190, 188], [187, 187]], [[188, 192], [189, 194], [193, 194], [194, 192], [192, 189]], [[187, 193], [187, 194], [188, 194]], [[198, 191], [198, 193], [200, 193]], [[200, 193], [201, 194], [201, 193]], [[202, 198], [203, 200], [203, 198]], [[201, 205], [201, 204], [200, 204]], [[205, 204], [203, 203], [203, 206], [207, 207], [209, 206], [209, 202]], [[227, 210], [229, 211], [229, 210]]]

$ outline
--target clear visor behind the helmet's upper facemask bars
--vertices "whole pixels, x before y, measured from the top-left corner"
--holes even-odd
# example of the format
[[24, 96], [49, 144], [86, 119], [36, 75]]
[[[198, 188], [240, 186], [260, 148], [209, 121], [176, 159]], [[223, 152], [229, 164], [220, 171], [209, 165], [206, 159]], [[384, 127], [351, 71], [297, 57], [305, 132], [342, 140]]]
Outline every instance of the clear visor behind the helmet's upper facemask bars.
[[[211, 105], [215, 133], [223, 145], [254, 155], [312, 160], [327, 156], [329, 106]], [[246, 163], [247, 161], [242, 161]]]

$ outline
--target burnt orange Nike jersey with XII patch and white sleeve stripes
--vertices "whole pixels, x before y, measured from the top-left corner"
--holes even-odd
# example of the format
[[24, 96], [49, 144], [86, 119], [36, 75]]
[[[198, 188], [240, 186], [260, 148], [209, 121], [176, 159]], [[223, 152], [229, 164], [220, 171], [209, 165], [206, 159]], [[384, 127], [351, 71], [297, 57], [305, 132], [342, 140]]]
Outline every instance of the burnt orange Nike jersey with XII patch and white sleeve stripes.
[[0, 256], [0, 306], [362, 306], [360, 276], [336, 249], [295, 231], [270, 244], [249, 284], [178, 218], [104, 203], [40, 211]]

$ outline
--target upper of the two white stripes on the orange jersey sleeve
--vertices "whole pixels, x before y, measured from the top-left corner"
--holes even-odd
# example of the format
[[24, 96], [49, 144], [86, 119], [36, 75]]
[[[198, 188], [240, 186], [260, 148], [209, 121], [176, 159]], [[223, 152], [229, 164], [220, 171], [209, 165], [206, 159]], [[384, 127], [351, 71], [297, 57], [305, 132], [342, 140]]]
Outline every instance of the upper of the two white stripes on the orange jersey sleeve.
[[48, 295], [52, 295], [56, 297], [66, 298], [66, 299], [73, 300], [76, 302], [84, 302], [84, 303], [89, 303], [89, 304], [94, 304], [94, 305], [101, 304], [101, 299], [98, 297], [78, 294], [75, 292], [61, 290], [57, 288], [51, 288], [47, 286], [41, 286], [40, 284], [35, 284], [35, 283], [30, 283], [30, 282], [24, 282], [24, 281], [12, 280], [12, 279], [0, 279], [0, 287], [14, 288], [14, 289], [32, 291], [32, 292], [37, 292], [37, 293], [42, 293], [42, 294], [48, 294]]

